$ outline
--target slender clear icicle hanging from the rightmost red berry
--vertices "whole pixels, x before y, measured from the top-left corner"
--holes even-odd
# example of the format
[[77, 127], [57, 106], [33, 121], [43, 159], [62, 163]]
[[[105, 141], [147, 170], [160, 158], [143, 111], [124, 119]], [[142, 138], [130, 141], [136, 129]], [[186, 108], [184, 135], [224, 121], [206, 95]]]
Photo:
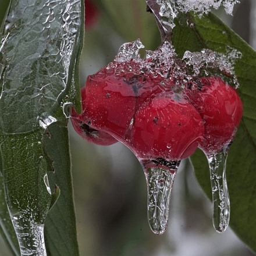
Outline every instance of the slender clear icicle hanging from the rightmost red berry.
[[227, 151], [207, 155], [211, 187], [213, 215], [212, 221], [216, 232], [222, 233], [229, 225], [230, 201], [226, 182]]

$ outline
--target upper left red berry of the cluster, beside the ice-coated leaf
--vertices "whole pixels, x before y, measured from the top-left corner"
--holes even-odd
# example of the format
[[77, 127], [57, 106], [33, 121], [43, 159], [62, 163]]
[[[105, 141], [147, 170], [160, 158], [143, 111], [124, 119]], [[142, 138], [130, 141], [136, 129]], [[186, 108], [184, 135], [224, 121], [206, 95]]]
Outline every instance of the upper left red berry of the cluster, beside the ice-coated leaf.
[[106, 67], [87, 77], [81, 90], [82, 118], [96, 130], [123, 137], [134, 115], [135, 97], [125, 74], [116, 76]]

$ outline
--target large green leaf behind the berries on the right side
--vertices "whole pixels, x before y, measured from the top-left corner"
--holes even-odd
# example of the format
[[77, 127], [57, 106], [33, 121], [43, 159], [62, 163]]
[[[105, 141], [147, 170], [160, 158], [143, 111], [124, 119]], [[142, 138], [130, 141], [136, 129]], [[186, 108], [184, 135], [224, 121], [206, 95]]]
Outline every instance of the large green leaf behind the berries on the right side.
[[[227, 184], [230, 195], [230, 227], [256, 252], [256, 52], [218, 17], [209, 13], [201, 19], [193, 13], [176, 20], [172, 42], [177, 54], [209, 48], [225, 52], [226, 46], [241, 52], [234, 66], [244, 104], [244, 113], [227, 158]], [[198, 183], [211, 198], [207, 159], [199, 150], [191, 157]]]

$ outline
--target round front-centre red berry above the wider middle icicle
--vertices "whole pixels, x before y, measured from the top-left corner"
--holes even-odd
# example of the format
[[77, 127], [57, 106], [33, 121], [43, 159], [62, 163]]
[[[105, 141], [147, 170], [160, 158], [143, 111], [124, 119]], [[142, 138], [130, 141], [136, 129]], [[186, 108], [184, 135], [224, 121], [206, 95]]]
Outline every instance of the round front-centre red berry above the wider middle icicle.
[[188, 101], [174, 98], [156, 97], [136, 113], [130, 148], [139, 159], [179, 161], [198, 147], [204, 134], [201, 116]]

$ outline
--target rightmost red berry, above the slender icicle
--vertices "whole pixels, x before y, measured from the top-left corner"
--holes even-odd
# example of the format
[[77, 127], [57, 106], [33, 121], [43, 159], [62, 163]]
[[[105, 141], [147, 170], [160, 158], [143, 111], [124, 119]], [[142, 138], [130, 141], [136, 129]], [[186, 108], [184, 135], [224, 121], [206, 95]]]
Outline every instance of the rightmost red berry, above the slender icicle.
[[243, 115], [243, 102], [237, 91], [219, 77], [203, 77], [200, 83], [199, 90], [187, 91], [204, 120], [204, 140], [199, 147], [211, 154], [232, 143]]

